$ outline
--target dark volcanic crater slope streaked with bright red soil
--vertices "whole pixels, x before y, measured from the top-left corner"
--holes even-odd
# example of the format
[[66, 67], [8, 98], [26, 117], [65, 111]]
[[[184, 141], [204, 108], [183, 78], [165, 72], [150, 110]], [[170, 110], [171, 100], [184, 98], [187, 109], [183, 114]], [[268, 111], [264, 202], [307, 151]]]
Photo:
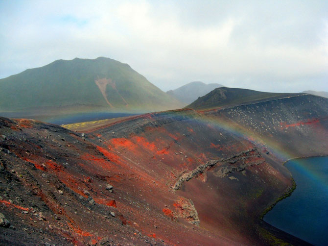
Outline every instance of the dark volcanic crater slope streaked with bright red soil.
[[[292, 186], [283, 161], [327, 154], [327, 101], [303, 99], [146, 114], [87, 134], [0, 118], [0, 207], [11, 224], [0, 243], [295, 243], [260, 216]], [[277, 114], [282, 100], [296, 115]], [[308, 119], [317, 122], [299, 123]]]

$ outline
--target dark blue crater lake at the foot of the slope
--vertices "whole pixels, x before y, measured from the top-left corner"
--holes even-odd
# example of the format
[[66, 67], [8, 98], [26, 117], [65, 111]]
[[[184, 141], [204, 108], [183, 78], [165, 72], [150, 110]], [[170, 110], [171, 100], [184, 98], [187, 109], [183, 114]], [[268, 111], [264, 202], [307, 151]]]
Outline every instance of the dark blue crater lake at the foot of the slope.
[[264, 216], [264, 221], [316, 245], [328, 245], [328, 157], [294, 159], [285, 164], [296, 189]]

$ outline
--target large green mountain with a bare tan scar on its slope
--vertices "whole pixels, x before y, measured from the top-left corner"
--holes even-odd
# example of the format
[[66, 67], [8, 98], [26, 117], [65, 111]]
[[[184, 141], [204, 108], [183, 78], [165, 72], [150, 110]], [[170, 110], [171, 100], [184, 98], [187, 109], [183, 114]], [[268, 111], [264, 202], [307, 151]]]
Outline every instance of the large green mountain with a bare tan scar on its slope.
[[128, 64], [105, 57], [57, 60], [0, 79], [0, 112], [146, 112], [182, 105]]

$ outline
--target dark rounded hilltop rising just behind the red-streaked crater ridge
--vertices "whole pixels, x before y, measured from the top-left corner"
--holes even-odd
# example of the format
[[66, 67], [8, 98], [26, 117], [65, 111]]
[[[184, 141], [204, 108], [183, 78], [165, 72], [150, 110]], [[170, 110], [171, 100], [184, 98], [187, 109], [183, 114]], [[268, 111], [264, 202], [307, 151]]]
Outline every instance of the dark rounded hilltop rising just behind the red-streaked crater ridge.
[[212, 90], [204, 97], [198, 98], [186, 108], [192, 109], [212, 109], [222, 106], [234, 106], [250, 102], [267, 100], [269, 98], [288, 97], [291, 93], [269, 93], [248, 89], [221, 87]]

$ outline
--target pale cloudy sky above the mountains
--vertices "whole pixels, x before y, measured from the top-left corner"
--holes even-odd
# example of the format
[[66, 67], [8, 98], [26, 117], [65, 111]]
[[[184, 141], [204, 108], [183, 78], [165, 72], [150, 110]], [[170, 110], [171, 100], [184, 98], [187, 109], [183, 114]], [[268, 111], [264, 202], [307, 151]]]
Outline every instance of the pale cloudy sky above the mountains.
[[0, 78], [99, 56], [164, 91], [328, 91], [328, 1], [0, 0]]

